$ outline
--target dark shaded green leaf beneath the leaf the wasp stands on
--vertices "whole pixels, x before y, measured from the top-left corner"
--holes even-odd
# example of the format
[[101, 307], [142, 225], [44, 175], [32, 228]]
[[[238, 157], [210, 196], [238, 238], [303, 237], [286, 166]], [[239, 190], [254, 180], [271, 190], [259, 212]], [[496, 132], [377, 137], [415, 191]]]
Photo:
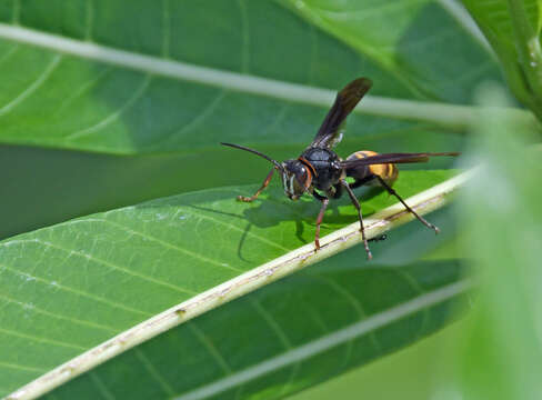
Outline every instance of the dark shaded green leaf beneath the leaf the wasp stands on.
[[[279, 399], [433, 333], [469, 289], [454, 260], [372, 268], [332, 260], [145, 342], [46, 399]], [[382, 292], [389, 296], [375, 296]]]

